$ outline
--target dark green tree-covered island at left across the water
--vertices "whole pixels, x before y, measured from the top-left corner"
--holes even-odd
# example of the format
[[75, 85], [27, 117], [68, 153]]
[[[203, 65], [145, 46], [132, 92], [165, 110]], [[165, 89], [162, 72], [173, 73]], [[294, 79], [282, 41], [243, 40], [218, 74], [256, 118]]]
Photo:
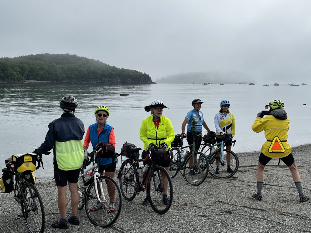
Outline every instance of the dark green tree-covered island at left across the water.
[[148, 74], [70, 54], [0, 57], [0, 82], [151, 84]]

